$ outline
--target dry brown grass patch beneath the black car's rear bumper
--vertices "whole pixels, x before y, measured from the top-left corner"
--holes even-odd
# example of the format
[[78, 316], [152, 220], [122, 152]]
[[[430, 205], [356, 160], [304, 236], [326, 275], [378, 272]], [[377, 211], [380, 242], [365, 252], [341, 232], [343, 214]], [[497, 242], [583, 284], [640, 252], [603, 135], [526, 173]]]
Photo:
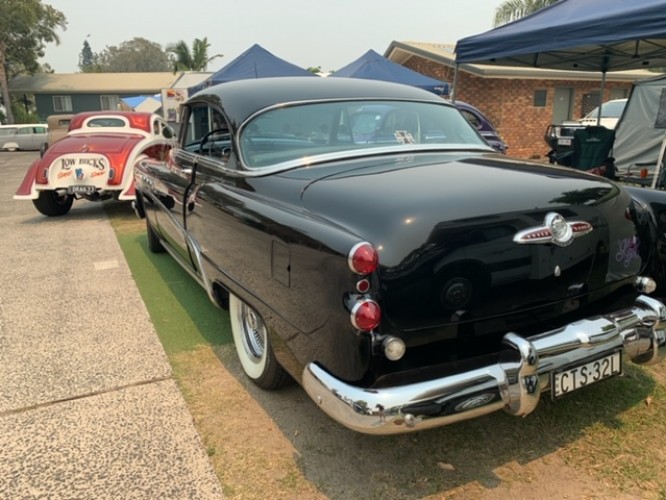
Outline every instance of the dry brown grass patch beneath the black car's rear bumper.
[[232, 346], [180, 354], [174, 364], [177, 371], [190, 367], [180, 374], [182, 390], [232, 498], [659, 497], [649, 488], [620, 492], [569, 465], [562, 449], [570, 438], [549, 438], [538, 418], [495, 414], [426, 432], [366, 436], [332, 421], [297, 385], [272, 393], [254, 387]]

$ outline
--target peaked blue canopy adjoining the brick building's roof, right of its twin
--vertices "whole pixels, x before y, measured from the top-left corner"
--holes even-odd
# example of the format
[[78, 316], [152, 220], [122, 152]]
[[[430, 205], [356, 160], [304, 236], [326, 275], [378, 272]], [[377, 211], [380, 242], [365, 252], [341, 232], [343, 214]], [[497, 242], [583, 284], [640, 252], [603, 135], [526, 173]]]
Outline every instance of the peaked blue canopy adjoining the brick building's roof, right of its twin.
[[331, 77], [335, 76], [403, 83], [429, 90], [438, 95], [447, 95], [449, 93], [448, 83], [400, 66], [374, 50], [367, 51], [361, 57], [331, 75]]

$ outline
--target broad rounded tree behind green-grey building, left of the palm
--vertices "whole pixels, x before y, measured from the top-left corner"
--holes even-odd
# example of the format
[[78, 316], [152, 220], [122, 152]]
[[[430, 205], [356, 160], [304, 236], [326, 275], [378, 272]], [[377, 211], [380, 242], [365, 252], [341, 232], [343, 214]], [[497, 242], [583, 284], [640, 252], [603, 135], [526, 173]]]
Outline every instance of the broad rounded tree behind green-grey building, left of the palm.
[[171, 69], [169, 55], [162, 46], [141, 37], [118, 46], [107, 46], [96, 59], [103, 73], [151, 73]]

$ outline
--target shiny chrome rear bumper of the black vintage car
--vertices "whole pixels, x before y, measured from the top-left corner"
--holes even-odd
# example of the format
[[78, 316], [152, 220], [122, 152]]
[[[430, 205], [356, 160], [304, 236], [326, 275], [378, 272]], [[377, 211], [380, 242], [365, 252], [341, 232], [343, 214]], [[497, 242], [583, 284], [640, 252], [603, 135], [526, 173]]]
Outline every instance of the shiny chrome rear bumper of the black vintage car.
[[633, 307], [584, 319], [529, 338], [507, 333], [495, 364], [464, 373], [381, 389], [346, 384], [314, 363], [303, 387], [333, 419], [367, 434], [399, 434], [505, 410], [532, 412], [550, 388], [550, 373], [622, 349], [635, 363], [666, 355], [666, 306], [641, 295]]

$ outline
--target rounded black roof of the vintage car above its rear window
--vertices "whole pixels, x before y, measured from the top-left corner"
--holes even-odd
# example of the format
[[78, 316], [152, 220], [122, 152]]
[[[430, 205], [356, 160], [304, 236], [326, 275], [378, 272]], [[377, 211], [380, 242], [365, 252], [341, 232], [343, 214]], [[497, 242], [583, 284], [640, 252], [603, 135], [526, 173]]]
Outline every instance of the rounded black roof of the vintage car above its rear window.
[[241, 123], [257, 111], [285, 103], [337, 99], [405, 99], [445, 103], [432, 92], [379, 80], [341, 77], [274, 77], [234, 80], [207, 87], [188, 102], [207, 101]]

